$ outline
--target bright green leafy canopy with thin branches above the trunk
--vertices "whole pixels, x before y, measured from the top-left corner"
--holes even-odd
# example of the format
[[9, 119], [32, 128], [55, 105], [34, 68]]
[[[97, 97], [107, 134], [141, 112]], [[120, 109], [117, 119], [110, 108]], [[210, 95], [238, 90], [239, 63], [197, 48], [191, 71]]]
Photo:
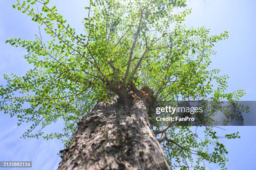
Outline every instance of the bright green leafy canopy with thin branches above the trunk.
[[[208, 68], [214, 43], [228, 33], [187, 28], [183, 21], [191, 9], [174, 12], [185, 0], [90, 0], [81, 35], [48, 3], [17, 0], [13, 7], [31, 16], [51, 40], [43, 42], [40, 32], [36, 40], [6, 41], [26, 48], [24, 57], [34, 66], [23, 77], [4, 75], [8, 83], [0, 87], [0, 110], [18, 117], [18, 125], [31, 124], [24, 138], [58, 138], [67, 145], [98, 100], [109, 90], [125, 100], [131, 84], [150, 87], [156, 100], [238, 100], [244, 94], [225, 93], [228, 76]], [[45, 134], [57, 120], [63, 120], [63, 132]], [[200, 141], [193, 127], [161, 128], [156, 127], [166, 135], [162, 146], [173, 169], [204, 169], [203, 160], [225, 169], [227, 151], [212, 127], [202, 127]]]

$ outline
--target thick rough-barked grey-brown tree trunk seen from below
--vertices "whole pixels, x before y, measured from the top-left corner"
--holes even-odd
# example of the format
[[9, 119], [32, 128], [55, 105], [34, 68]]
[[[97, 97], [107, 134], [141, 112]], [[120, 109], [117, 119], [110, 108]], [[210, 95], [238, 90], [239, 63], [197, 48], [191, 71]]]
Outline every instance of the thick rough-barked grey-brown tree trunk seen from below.
[[169, 170], [148, 120], [148, 101], [98, 102], [63, 151], [59, 170]]

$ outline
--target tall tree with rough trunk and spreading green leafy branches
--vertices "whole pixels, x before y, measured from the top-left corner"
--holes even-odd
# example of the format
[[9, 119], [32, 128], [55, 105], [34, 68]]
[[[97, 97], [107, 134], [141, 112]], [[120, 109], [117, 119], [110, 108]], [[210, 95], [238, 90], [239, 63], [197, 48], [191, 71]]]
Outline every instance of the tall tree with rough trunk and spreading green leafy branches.
[[[50, 41], [42, 41], [40, 29], [36, 40], [6, 41], [25, 47], [34, 65], [23, 77], [4, 75], [8, 84], [0, 92], [0, 110], [17, 116], [18, 125], [31, 124], [24, 138], [63, 140], [59, 169], [204, 169], [205, 160], [225, 169], [228, 152], [215, 127], [155, 124], [152, 107], [238, 100], [244, 91], [225, 93], [228, 76], [208, 68], [214, 43], [227, 32], [187, 28], [191, 10], [173, 12], [185, 0], [90, 0], [84, 34], [77, 35], [48, 3], [17, 0], [13, 7], [42, 25]], [[45, 134], [59, 119], [63, 133]]]

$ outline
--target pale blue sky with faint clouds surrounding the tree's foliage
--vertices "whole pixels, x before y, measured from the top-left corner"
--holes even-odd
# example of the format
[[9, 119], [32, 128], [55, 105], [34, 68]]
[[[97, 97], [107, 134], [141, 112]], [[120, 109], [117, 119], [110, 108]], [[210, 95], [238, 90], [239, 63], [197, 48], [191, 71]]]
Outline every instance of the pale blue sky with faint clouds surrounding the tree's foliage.
[[[38, 25], [31, 18], [12, 8], [15, 0], [2, 0], [0, 10], [0, 84], [5, 84], [3, 74], [15, 73], [24, 75], [31, 65], [24, 60], [26, 50], [5, 44], [10, 37], [34, 40], [38, 33]], [[82, 32], [82, 19], [86, 14], [84, 0], [52, 0], [59, 13], [64, 15], [67, 23]], [[228, 40], [215, 45], [217, 55], [212, 57], [211, 68], [220, 68], [221, 73], [228, 74], [228, 91], [246, 90], [241, 100], [256, 100], [256, 1], [254, 0], [188, 0], [192, 14], [187, 17], [186, 24], [193, 27], [205, 26], [212, 34], [229, 32]], [[44, 37], [46, 40], [47, 37]], [[47, 131], [59, 130], [61, 124], [51, 126]], [[255, 131], [256, 127], [225, 127], [220, 133], [239, 131], [241, 139], [223, 140], [227, 150], [228, 169], [256, 169]], [[56, 169], [60, 157], [57, 155], [63, 145], [59, 140], [20, 139], [26, 125], [17, 127], [16, 119], [0, 112], [0, 160], [32, 160], [30, 170]], [[209, 165], [213, 170], [215, 165]]]

